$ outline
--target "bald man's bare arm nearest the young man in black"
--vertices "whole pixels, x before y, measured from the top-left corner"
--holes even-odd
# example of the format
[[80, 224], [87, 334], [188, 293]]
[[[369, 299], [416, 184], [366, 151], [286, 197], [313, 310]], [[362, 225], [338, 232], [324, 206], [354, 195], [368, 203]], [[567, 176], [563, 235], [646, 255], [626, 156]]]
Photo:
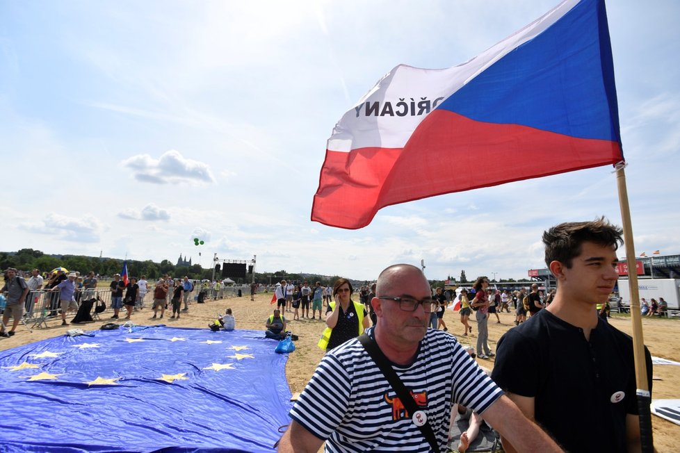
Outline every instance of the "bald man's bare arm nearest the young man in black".
[[[501, 434], [505, 452], [562, 452], [555, 441], [533, 422], [533, 397], [512, 393], [508, 396], [503, 395], [481, 414]], [[515, 404], [515, 400], [519, 404]]]

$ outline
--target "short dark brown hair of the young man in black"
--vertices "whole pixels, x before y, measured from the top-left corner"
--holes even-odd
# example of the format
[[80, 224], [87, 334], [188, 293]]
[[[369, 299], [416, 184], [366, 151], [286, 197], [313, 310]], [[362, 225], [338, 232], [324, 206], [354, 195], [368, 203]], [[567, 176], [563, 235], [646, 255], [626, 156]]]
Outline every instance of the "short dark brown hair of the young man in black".
[[623, 244], [623, 230], [603, 217], [592, 222], [567, 222], [552, 227], [543, 233], [545, 263], [550, 267], [553, 261], [572, 267], [572, 260], [581, 254], [583, 242], [598, 245], [613, 245], [616, 250]]

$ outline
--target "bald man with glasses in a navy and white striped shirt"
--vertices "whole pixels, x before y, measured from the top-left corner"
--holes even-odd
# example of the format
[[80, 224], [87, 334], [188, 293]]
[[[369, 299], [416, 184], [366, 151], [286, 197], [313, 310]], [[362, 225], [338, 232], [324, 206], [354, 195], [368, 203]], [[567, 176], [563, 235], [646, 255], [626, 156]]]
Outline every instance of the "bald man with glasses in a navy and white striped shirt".
[[[522, 451], [559, 447], [503, 395], [455, 337], [428, 329], [436, 304], [418, 267], [387, 267], [371, 304], [378, 318], [365, 336], [330, 350], [291, 409], [280, 452], [447, 451], [451, 413], [460, 403], [479, 413]], [[410, 413], [373, 357], [396, 372], [412, 396]], [[426, 437], [424, 425], [429, 425]], [[422, 429], [422, 431], [421, 431]], [[432, 447], [431, 445], [434, 445]]]

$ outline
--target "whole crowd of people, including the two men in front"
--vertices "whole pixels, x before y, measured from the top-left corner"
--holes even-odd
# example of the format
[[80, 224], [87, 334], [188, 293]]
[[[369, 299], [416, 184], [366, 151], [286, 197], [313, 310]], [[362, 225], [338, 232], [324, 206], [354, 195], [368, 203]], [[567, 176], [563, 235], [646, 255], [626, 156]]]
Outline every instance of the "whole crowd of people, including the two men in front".
[[[281, 281], [274, 293], [276, 308], [265, 322], [266, 336], [288, 336], [284, 313], [292, 313], [293, 320], [322, 320], [323, 313], [318, 347], [325, 356], [293, 404], [279, 450], [315, 452], [326, 442], [330, 451], [442, 451], [451, 440], [454, 418], [468, 413], [471, 427], [460, 438], [461, 451], [482, 422], [499, 432], [506, 452], [639, 451], [632, 340], [612, 327], [601, 309], [617, 281], [622, 231], [603, 218], [560, 224], [542, 239], [546, 264], [557, 280], [556, 290], [547, 295], [537, 284], [528, 293], [494, 290], [487, 277], [479, 277], [455, 300], [446, 297], [444, 288], [431, 288], [423, 272], [407, 264], [391, 265], [375, 283], [359, 288], [358, 301], [348, 279], [337, 279], [332, 287]], [[14, 318], [15, 324], [3, 334], [13, 334], [22, 302], [31, 288], [42, 285], [38, 275], [32, 277], [26, 281], [16, 270], [6, 272], [3, 323]], [[67, 324], [63, 313], [72, 308], [76, 294], [96, 288], [97, 282], [93, 274], [81, 279], [73, 272], [50, 276], [47, 285], [56, 295], [53, 307], [60, 307]], [[210, 289], [207, 282], [201, 285], [201, 290]], [[122, 308], [131, 318], [149, 287], [144, 277], [131, 277], [125, 284], [115, 275], [109, 286], [112, 318], [118, 319]], [[256, 289], [251, 286], [251, 298]], [[159, 311], [163, 318], [168, 302], [171, 318], [180, 318], [194, 290], [186, 278], [159, 279], [153, 288], [154, 318]], [[444, 313], [456, 302], [462, 336], [473, 334], [469, 316], [475, 312], [475, 349], [448, 333]], [[652, 302], [642, 304], [647, 313], [662, 309], [663, 299]], [[510, 313], [511, 306], [516, 326], [499, 339], [494, 352], [489, 318], [494, 314], [500, 322], [499, 312]], [[234, 329], [232, 311], [218, 322]], [[494, 354], [489, 376], [475, 357]], [[651, 377], [646, 349], [645, 365]], [[577, 404], [563, 404], [572, 399]]]

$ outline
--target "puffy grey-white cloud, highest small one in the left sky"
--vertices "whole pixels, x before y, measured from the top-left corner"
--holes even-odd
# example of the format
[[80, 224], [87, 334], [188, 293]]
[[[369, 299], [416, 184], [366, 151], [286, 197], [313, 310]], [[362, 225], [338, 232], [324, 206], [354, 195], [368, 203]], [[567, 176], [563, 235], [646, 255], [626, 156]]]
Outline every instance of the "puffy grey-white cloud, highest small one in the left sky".
[[124, 167], [133, 170], [137, 181], [154, 184], [168, 183], [214, 183], [215, 176], [207, 163], [188, 159], [179, 151], [170, 149], [160, 158], [138, 154], [123, 160]]

